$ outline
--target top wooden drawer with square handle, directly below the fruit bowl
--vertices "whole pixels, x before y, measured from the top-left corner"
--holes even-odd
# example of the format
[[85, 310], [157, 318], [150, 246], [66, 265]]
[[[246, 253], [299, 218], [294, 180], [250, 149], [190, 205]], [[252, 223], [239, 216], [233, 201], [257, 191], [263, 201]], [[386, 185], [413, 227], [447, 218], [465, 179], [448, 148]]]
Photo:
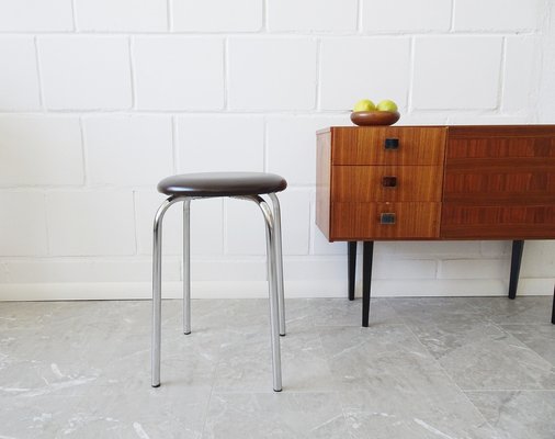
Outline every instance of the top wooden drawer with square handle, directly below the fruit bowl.
[[[320, 134], [324, 135], [325, 133]], [[442, 165], [445, 127], [333, 127], [332, 165]]]

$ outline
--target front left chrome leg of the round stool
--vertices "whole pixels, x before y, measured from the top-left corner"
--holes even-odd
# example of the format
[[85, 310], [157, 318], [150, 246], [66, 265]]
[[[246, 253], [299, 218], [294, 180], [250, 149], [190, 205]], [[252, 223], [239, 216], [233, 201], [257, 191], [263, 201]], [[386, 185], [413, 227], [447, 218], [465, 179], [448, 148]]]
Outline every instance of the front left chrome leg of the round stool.
[[179, 199], [166, 200], [155, 215], [152, 227], [152, 387], [160, 385], [160, 345], [162, 315], [162, 219], [170, 205]]

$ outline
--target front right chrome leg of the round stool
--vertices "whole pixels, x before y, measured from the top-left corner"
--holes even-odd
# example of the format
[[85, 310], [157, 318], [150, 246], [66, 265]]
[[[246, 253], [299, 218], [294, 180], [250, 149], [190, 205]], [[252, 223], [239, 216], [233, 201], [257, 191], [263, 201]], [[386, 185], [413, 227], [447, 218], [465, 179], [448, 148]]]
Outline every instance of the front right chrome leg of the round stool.
[[282, 391], [282, 369], [281, 369], [281, 351], [280, 351], [280, 323], [279, 323], [279, 300], [278, 300], [278, 282], [276, 282], [276, 261], [275, 261], [275, 224], [272, 211], [268, 203], [260, 195], [247, 196], [254, 201], [265, 219], [265, 237], [267, 237], [267, 259], [268, 259], [268, 284], [270, 292], [270, 333], [272, 346], [272, 370], [273, 370], [273, 390]]

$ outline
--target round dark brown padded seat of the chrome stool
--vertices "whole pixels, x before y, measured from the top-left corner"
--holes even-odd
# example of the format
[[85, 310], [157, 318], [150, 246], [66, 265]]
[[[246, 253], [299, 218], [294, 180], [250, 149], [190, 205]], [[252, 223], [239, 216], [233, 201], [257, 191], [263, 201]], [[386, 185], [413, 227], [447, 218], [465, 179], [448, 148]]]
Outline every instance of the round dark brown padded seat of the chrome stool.
[[199, 172], [165, 178], [158, 191], [173, 196], [241, 196], [281, 192], [287, 182], [267, 172]]

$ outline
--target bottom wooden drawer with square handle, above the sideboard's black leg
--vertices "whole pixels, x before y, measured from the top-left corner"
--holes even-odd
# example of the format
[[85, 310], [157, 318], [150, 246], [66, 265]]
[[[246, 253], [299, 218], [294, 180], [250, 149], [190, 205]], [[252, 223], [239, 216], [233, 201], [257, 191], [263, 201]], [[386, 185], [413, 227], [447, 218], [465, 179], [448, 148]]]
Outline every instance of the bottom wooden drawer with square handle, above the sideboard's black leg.
[[332, 240], [435, 239], [440, 203], [331, 203]]

